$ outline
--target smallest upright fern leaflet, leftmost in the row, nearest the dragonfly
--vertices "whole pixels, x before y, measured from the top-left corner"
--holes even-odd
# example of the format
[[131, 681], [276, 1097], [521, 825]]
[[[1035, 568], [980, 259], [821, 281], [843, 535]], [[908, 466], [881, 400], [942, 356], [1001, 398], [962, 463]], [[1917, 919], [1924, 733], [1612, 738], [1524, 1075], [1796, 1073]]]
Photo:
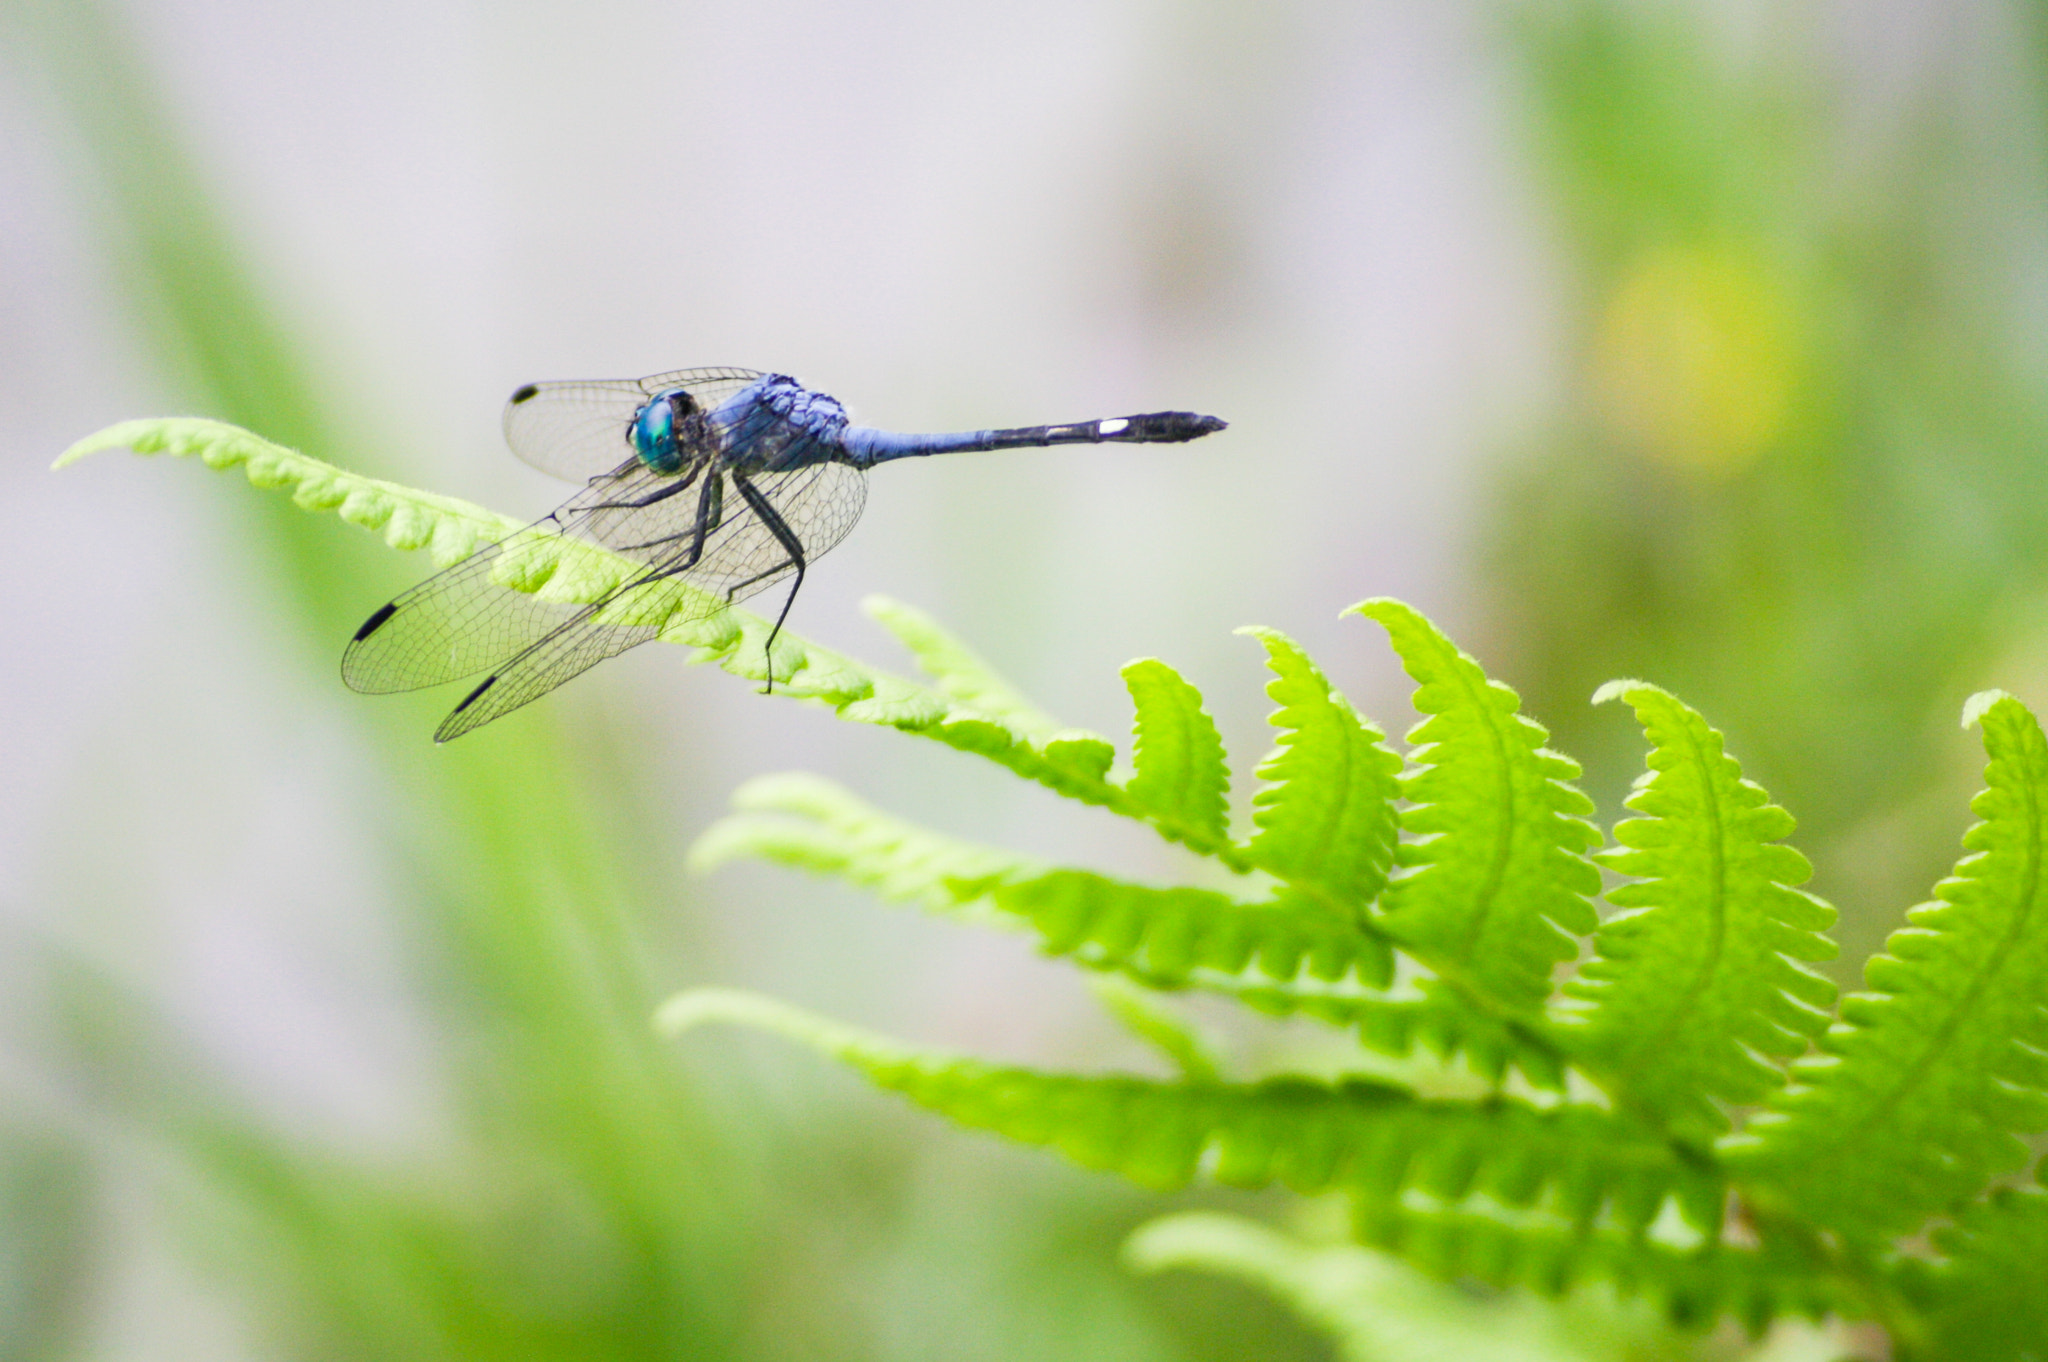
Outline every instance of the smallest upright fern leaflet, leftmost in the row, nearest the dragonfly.
[[1130, 803], [1174, 842], [1194, 850], [1229, 846], [1231, 772], [1202, 692], [1157, 657], [1126, 666], [1124, 686], [1137, 707], [1137, 774], [1124, 784]]

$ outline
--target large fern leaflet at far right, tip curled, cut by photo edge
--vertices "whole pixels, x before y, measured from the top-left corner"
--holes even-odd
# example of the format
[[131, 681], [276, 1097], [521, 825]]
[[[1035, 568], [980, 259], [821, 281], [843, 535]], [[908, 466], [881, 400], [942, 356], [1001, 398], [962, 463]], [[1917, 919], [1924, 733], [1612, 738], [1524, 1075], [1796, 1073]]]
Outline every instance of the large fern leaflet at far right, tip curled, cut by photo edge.
[[2048, 741], [2003, 692], [1964, 721], [1989, 758], [1966, 856], [1864, 967], [1870, 991], [1841, 999], [1825, 1055], [1726, 1143], [1759, 1200], [1851, 1241], [1962, 1204], [2048, 1129]]

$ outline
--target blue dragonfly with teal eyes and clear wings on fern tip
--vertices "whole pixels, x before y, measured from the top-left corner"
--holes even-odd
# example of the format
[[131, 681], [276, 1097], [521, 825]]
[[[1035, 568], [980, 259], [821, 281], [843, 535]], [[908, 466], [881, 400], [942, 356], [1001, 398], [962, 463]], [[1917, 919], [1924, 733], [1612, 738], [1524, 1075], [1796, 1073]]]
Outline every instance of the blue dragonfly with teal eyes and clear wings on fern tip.
[[[504, 412], [512, 453], [584, 490], [522, 530], [479, 547], [362, 621], [342, 680], [365, 694], [483, 676], [434, 741], [502, 719], [606, 657], [791, 580], [774, 641], [809, 565], [846, 539], [866, 471], [895, 459], [1049, 444], [1196, 440], [1227, 422], [1149, 412], [1063, 426], [899, 434], [848, 424], [846, 408], [788, 375], [682, 369], [645, 379], [526, 383]], [[506, 582], [551, 539], [627, 559], [598, 600], [547, 600]], [[676, 592], [676, 584], [696, 588]], [[666, 592], [668, 596], [651, 596]], [[662, 625], [635, 619], [655, 600]], [[680, 602], [680, 604], [678, 604]], [[657, 610], [659, 614], [659, 610]]]

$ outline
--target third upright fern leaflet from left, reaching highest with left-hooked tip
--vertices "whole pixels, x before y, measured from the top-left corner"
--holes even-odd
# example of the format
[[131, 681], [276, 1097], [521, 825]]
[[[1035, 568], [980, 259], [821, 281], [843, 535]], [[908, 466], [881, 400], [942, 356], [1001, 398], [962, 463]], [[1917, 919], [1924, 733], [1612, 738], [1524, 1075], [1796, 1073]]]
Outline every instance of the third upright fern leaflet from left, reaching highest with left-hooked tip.
[[1548, 735], [1518, 713], [1516, 692], [1436, 625], [1399, 600], [1352, 608], [1386, 629], [1425, 715], [1401, 778], [1409, 840], [1395, 858], [1407, 872], [1380, 895], [1376, 922], [1436, 973], [1436, 1030], [1499, 1071], [1532, 1045], [1479, 1049], [1466, 1022], [1526, 1034], [1542, 1024], [1552, 967], [1599, 922], [1599, 870], [1585, 856], [1599, 844], [1585, 817], [1593, 805], [1571, 784], [1579, 766], [1542, 746]]

